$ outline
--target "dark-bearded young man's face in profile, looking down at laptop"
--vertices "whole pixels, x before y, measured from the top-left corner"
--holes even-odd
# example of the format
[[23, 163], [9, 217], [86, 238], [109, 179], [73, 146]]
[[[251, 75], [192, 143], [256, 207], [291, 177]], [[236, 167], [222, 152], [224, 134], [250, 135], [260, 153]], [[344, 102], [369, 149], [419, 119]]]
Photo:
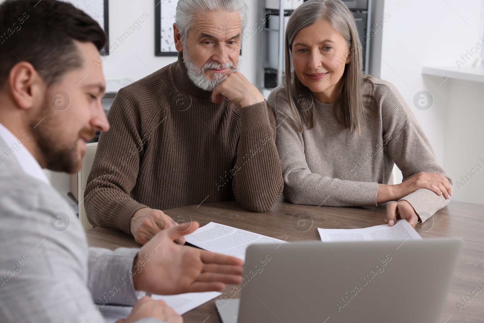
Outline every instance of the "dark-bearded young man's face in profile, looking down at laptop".
[[[82, 67], [67, 72], [50, 86], [33, 136], [45, 161], [45, 168], [75, 173], [81, 168], [86, 152], [85, 141], [96, 131], [107, 131], [101, 98], [106, 83], [100, 66], [99, 51], [92, 43], [75, 42]], [[43, 114], [43, 115], [42, 115]]]

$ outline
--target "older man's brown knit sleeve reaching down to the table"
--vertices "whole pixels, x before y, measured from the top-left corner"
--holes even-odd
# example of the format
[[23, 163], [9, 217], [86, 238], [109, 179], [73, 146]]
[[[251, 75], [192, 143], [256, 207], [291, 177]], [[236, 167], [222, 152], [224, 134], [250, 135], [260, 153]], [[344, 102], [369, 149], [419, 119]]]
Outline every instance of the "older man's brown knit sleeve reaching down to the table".
[[116, 95], [107, 120], [110, 129], [99, 138], [84, 206], [92, 225], [131, 234], [133, 214], [147, 207], [130, 195], [136, 185], [146, 138], [140, 135], [137, 103], [125, 90]]

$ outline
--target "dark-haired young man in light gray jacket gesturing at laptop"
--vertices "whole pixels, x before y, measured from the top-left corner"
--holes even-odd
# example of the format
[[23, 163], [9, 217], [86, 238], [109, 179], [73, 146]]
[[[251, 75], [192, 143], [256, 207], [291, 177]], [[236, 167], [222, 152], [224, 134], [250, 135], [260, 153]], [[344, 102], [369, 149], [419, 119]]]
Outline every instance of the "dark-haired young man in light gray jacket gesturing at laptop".
[[[57, 0], [0, 5], [0, 322], [100, 323], [106, 303], [134, 305], [123, 322], [180, 323], [162, 301], [239, 283], [242, 261], [175, 244], [198, 224], [160, 231], [141, 249], [88, 248], [42, 168], [76, 172], [85, 141], [109, 125], [101, 105], [105, 34]], [[94, 303], [97, 303], [95, 305]], [[136, 303], [136, 304], [135, 304]]]

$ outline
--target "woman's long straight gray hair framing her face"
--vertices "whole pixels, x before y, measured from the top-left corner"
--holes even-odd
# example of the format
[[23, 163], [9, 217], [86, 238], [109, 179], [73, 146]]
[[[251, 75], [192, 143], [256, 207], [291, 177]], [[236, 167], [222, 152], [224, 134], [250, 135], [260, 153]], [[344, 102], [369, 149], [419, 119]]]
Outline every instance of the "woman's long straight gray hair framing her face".
[[368, 95], [363, 95], [363, 81], [371, 80], [369, 76], [363, 75], [362, 46], [354, 17], [341, 0], [308, 0], [294, 10], [287, 22], [284, 79], [292, 119], [301, 132], [303, 125], [308, 129], [314, 126], [314, 101], [309, 88], [304, 86], [294, 73], [292, 42], [303, 28], [323, 19], [345, 38], [350, 59], [350, 62], [345, 64], [343, 76], [336, 86], [338, 98], [334, 104], [334, 114], [346, 128], [359, 132], [367, 112], [363, 97]]

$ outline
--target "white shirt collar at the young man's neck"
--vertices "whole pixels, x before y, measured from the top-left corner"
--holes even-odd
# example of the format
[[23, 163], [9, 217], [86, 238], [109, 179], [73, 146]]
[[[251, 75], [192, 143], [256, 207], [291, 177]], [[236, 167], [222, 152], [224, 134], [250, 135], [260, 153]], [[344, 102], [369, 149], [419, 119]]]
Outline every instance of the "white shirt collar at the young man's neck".
[[[9, 156], [12, 156], [9, 153], [9, 151], [11, 151], [18, 164], [27, 175], [47, 185], [50, 185], [49, 179], [45, 175], [44, 170], [42, 170], [42, 167], [40, 167], [37, 160], [35, 160], [32, 154], [30, 154], [29, 150], [24, 147], [23, 142], [15, 138], [15, 135], [1, 123], [0, 138], [2, 138], [5, 144], [8, 146], [8, 150], [5, 153]], [[24, 140], [28, 140], [28, 138]]]

